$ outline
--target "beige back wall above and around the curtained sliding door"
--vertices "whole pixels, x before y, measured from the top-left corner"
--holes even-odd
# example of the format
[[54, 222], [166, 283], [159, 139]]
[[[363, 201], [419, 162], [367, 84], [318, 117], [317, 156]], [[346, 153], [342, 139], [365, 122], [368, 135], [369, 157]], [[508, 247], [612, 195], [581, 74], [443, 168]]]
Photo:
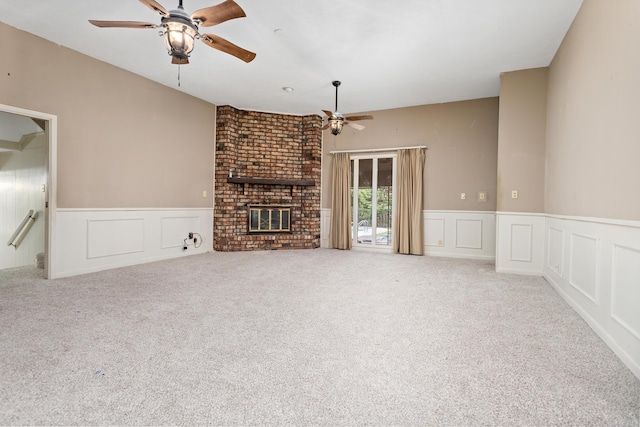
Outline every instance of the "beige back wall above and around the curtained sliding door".
[[[338, 136], [324, 132], [322, 206], [331, 207], [332, 150], [428, 147], [424, 209], [496, 209], [498, 98], [371, 112], [366, 129], [346, 127]], [[486, 191], [486, 202], [478, 202]], [[467, 194], [466, 200], [460, 193]]]

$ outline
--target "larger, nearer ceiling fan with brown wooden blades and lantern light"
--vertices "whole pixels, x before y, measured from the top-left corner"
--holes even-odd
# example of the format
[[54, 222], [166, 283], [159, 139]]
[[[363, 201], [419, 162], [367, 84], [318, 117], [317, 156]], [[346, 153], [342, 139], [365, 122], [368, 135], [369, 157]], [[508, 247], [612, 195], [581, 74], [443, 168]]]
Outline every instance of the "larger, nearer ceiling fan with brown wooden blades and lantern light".
[[178, 8], [168, 11], [155, 0], [140, 0], [149, 9], [162, 16], [160, 24], [139, 21], [96, 21], [89, 20], [90, 23], [100, 28], [160, 28], [160, 35], [164, 38], [172, 64], [188, 64], [189, 55], [193, 50], [196, 39], [202, 40], [204, 44], [221, 52], [233, 55], [244, 62], [251, 62], [256, 54], [249, 52], [235, 44], [213, 34], [200, 34], [198, 27], [211, 27], [222, 22], [235, 18], [243, 18], [244, 10], [233, 0], [197, 10], [189, 16], [182, 7], [182, 0], [179, 0]]

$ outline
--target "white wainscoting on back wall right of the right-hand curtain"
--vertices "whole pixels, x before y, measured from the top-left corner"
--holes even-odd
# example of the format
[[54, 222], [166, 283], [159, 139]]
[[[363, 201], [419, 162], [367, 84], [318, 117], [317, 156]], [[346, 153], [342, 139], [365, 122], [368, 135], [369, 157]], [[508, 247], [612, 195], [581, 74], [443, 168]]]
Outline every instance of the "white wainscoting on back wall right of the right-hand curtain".
[[495, 212], [427, 210], [423, 214], [426, 255], [495, 259]]

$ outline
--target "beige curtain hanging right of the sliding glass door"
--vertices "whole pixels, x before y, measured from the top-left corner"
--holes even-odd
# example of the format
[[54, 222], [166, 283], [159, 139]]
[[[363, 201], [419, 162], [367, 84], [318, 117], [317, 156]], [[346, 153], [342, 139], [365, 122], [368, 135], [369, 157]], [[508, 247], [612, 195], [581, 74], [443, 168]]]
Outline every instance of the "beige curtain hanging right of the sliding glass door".
[[393, 251], [422, 255], [422, 194], [425, 149], [398, 150], [397, 209], [393, 222]]

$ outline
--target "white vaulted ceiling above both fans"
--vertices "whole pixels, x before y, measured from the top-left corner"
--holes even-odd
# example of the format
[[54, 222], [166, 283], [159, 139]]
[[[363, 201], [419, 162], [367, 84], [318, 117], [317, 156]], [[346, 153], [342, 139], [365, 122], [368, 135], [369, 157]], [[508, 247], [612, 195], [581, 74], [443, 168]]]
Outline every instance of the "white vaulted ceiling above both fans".
[[[158, 0], [175, 9], [178, 0]], [[201, 28], [253, 51], [241, 60], [197, 42], [170, 63], [159, 23], [136, 0], [0, 0], [0, 21], [213, 104], [289, 114], [356, 113], [497, 96], [503, 71], [549, 65], [582, 0], [236, 0], [247, 14]], [[184, 0], [189, 13], [220, 0]], [[25, 52], [29, 55], [29, 52]], [[81, 70], [78, 70], [81, 72]], [[287, 93], [284, 86], [294, 88]]]

